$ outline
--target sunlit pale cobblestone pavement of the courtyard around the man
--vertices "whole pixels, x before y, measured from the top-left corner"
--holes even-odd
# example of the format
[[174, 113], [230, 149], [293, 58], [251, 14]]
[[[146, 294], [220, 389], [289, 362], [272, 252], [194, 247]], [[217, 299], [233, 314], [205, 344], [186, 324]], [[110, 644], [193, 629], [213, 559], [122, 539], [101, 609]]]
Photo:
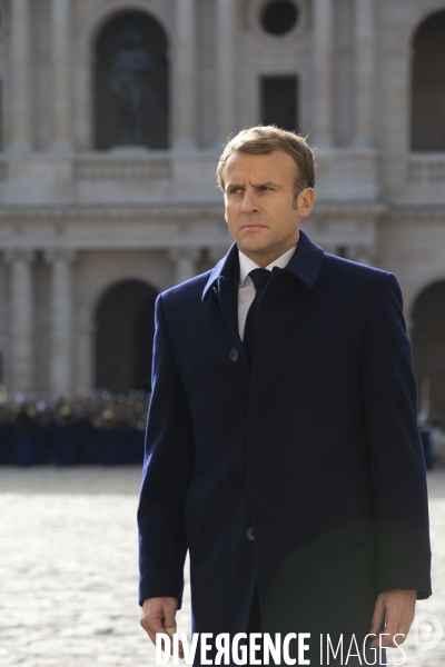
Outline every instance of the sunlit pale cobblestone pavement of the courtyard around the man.
[[[136, 468], [0, 469], [0, 666], [155, 665], [136, 601], [139, 481]], [[417, 615], [445, 626], [445, 471], [428, 485], [434, 596]], [[189, 599], [186, 587], [178, 631], [189, 633]], [[405, 651], [405, 665], [445, 667], [445, 639], [422, 651], [413, 633]]]

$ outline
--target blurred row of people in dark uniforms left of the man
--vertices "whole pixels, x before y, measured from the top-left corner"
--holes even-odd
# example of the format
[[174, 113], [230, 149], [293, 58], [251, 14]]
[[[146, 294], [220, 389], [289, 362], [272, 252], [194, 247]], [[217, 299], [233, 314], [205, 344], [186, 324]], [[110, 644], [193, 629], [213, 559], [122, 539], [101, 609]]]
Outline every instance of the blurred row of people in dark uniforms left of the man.
[[0, 465], [131, 465], [144, 458], [149, 395], [9, 396], [0, 387]]

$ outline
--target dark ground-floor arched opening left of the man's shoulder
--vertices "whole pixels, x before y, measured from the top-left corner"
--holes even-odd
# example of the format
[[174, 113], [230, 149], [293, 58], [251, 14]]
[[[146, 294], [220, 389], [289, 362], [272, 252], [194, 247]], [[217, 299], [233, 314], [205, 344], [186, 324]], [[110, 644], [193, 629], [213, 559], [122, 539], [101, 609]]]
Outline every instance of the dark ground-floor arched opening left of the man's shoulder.
[[150, 390], [158, 292], [140, 280], [122, 280], [96, 311], [96, 387], [113, 394]]

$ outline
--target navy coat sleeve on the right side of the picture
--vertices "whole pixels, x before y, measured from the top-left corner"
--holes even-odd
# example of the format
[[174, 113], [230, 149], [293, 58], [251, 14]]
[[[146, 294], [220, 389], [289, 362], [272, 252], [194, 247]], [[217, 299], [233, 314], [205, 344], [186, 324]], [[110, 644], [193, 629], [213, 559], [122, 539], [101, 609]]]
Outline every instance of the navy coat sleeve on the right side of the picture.
[[369, 307], [363, 396], [374, 486], [378, 591], [431, 589], [428, 504], [417, 387], [402, 291], [386, 273]]

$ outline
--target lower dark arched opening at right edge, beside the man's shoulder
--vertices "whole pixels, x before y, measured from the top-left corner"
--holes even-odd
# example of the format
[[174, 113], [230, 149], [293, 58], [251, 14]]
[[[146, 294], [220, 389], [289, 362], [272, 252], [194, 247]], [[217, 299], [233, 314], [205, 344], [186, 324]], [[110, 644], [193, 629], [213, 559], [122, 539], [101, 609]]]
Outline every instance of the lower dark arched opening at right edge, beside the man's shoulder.
[[445, 280], [431, 285], [418, 296], [413, 325], [421, 407], [445, 425]]

